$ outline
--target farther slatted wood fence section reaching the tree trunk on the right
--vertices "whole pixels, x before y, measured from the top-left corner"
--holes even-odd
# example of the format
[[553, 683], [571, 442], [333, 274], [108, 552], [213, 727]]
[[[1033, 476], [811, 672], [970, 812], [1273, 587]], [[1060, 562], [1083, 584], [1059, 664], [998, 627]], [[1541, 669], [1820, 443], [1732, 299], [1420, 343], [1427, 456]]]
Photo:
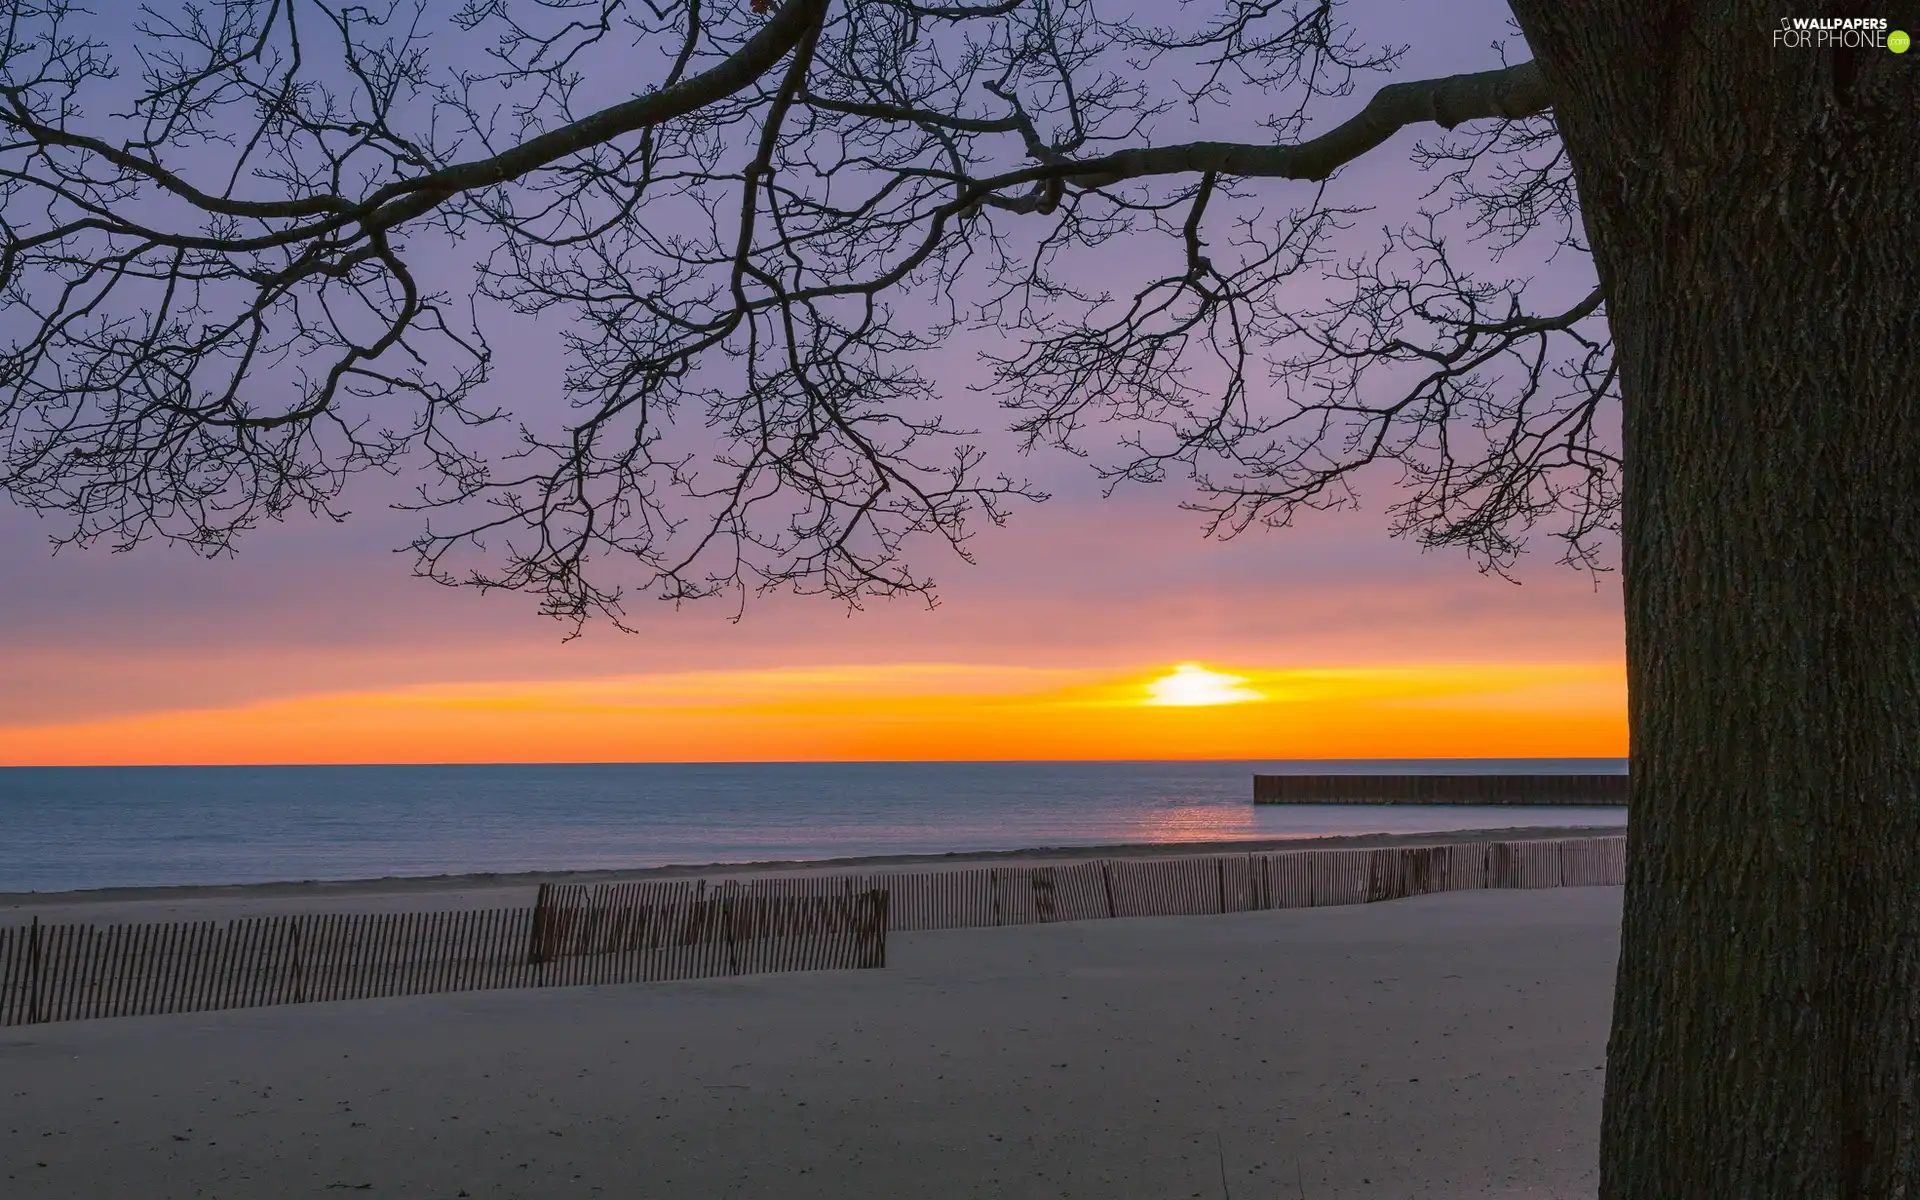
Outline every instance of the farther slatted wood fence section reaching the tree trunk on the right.
[[[1363, 851], [1277, 851], [1185, 858], [1089, 860], [1069, 866], [977, 866], [927, 872], [676, 879], [543, 889], [566, 920], [732, 895], [755, 900], [883, 891], [889, 927], [977, 929], [1125, 916], [1202, 916], [1398, 900], [1482, 887], [1588, 887], [1626, 881], [1624, 837], [1475, 841]], [[553, 918], [561, 920], [561, 918]]]

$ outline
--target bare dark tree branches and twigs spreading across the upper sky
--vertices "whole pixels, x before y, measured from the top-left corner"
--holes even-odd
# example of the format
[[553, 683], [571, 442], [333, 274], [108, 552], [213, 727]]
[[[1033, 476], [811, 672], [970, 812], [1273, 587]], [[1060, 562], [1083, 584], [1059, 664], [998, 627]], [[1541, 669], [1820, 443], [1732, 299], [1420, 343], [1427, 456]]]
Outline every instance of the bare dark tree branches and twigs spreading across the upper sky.
[[[1538, 69], [1352, 111], [1396, 48], [1327, 0], [1215, 2], [215, 0], [109, 44], [0, 0], [0, 488], [67, 541], [225, 553], [407, 470], [422, 574], [576, 628], [634, 591], [931, 601], [916, 545], [964, 559], [1043, 497], [916, 369], [993, 330], [1027, 445], [1110, 424], [1108, 480], [1185, 472], [1217, 534], [1392, 461], [1396, 530], [1503, 570], [1557, 513], [1596, 564], [1599, 292], [1536, 311], [1432, 223], [1329, 253], [1365, 209], [1338, 167], [1415, 127], [1469, 127], [1413, 161], [1473, 236], [1576, 244]], [[1256, 102], [1271, 142], [1165, 136]], [[1256, 180], [1311, 186], [1275, 221]], [[1131, 294], [1064, 282], [1116, 248]], [[528, 319], [564, 403], [490, 407], [484, 328]]]

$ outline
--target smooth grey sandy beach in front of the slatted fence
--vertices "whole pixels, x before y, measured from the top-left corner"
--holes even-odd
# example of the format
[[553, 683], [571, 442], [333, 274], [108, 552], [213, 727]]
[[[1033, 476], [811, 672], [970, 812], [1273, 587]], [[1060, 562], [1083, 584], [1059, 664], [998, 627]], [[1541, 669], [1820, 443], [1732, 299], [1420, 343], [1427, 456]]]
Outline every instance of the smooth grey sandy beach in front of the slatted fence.
[[[328, 900], [361, 895], [396, 893]], [[895, 933], [879, 972], [4, 1029], [0, 1190], [1586, 1198], [1619, 912], [1465, 891]]]

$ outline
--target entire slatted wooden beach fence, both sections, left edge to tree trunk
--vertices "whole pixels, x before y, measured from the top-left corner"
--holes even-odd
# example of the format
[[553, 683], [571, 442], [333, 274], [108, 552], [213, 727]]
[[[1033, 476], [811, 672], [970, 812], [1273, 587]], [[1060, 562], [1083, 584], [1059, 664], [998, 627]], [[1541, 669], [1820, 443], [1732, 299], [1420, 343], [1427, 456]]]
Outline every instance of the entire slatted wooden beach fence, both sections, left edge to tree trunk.
[[1626, 879], [1624, 837], [541, 885], [532, 908], [0, 927], [0, 1025], [497, 987], [879, 968], [887, 931]]

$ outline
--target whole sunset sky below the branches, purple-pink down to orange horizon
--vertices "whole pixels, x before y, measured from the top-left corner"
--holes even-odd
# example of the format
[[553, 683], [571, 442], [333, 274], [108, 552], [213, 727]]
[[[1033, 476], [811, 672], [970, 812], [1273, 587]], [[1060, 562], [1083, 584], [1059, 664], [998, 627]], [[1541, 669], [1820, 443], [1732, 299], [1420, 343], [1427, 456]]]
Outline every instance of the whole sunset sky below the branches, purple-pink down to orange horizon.
[[[1356, 13], [1413, 46], [1398, 77], [1498, 65], [1507, 35], [1478, 0]], [[1350, 230], [1356, 250], [1430, 182], [1404, 165], [1411, 142], [1361, 165], [1382, 213]], [[501, 397], [551, 392], [559, 348], [528, 330], [516, 349]], [[964, 392], [977, 349], [950, 346], [933, 376], [1004, 426]], [[1179, 484], [1100, 499], [1066, 455], [1010, 470], [1054, 499], [981, 530], [977, 566], [922, 557], [933, 611], [768, 597], [733, 624], [724, 601], [636, 607], [637, 634], [574, 641], [522, 597], [411, 578], [392, 551], [417, 516], [376, 482], [349, 492], [346, 524], [296, 518], [213, 563], [54, 557], [56, 526], [0, 501], [0, 764], [1626, 753], [1617, 576], [1596, 586], [1542, 545], [1515, 586], [1394, 541], [1390, 472], [1363, 513], [1217, 543]]]

